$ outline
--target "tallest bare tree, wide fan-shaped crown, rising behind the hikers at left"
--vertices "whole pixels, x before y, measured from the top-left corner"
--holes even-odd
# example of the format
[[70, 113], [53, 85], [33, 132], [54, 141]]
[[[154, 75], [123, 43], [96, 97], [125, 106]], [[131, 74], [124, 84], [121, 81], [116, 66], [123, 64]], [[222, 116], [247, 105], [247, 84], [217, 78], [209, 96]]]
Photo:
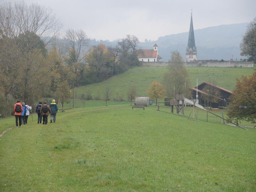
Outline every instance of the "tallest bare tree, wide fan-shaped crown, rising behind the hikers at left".
[[0, 6], [0, 38], [14, 39], [18, 45], [23, 61], [21, 68], [24, 69], [25, 100], [34, 94], [35, 89], [49, 81], [48, 78], [42, 78], [50, 71], [45, 65], [45, 47], [57, 36], [61, 27], [62, 24], [50, 8], [24, 2]]

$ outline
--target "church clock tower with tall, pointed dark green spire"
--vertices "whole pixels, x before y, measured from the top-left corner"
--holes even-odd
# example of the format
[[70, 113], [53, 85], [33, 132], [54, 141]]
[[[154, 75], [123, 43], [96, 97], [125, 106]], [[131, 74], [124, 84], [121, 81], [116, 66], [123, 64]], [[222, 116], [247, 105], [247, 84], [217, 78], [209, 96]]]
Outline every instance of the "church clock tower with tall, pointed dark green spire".
[[191, 12], [191, 20], [190, 20], [190, 32], [188, 34], [188, 46], [186, 49], [186, 62], [197, 60], [197, 49], [196, 43], [194, 40], [194, 28], [193, 28], [193, 20], [192, 20], [192, 12]]

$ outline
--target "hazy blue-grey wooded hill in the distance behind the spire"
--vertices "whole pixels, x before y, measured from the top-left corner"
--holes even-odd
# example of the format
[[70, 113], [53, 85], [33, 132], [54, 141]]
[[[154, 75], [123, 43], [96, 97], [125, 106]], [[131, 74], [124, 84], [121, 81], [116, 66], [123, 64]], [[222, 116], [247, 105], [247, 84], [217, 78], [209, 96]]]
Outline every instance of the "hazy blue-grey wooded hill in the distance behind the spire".
[[[247, 25], [248, 23], [240, 23], [194, 30], [196, 47], [198, 49], [198, 59], [230, 60], [232, 55], [234, 60], [236, 58], [237, 60], [245, 58], [240, 56], [239, 45], [245, 34]], [[165, 35], [164, 37], [159, 37], [156, 41], [149, 41], [146, 39], [145, 42], [140, 43], [140, 47], [143, 49], [152, 48], [155, 42], [159, 46], [159, 55], [163, 58], [163, 61], [168, 61], [170, 52], [174, 50], [178, 50], [185, 59], [188, 32]], [[115, 45], [117, 41], [91, 40], [91, 45], [100, 43], [109, 46]]]

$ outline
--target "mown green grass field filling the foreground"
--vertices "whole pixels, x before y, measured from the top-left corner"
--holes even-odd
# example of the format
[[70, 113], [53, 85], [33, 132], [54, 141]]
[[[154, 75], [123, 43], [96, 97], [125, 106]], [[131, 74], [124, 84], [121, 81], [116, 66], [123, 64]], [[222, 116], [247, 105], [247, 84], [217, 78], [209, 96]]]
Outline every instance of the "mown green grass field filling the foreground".
[[[0, 191], [256, 191], [256, 129], [122, 104], [87, 102], [7, 131]], [[1, 132], [13, 126], [0, 119]]]

